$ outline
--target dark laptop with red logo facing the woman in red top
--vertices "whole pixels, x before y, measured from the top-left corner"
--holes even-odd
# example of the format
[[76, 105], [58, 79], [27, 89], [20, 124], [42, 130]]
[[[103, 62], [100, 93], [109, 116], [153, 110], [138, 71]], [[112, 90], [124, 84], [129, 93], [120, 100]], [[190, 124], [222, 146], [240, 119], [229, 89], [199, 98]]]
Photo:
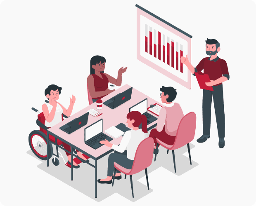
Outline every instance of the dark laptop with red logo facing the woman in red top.
[[111, 109], [115, 109], [121, 104], [126, 103], [128, 100], [130, 100], [132, 96], [132, 91], [133, 87], [127, 89], [126, 91], [123, 91], [122, 93], [117, 94], [116, 96], [113, 96], [111, 99], [105, 101], [103, 104]]

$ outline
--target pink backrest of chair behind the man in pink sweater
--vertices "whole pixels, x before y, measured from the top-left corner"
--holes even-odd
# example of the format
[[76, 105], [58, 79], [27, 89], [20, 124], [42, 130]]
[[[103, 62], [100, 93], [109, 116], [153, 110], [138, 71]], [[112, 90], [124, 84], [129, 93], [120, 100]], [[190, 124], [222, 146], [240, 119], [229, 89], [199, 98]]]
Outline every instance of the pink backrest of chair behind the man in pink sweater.
[[183, 147], [194, 139], [194, 133], [196, 131], [196, 121], [197, 116], [194, 112], [188, 113], [180, 120], [172, 150]]

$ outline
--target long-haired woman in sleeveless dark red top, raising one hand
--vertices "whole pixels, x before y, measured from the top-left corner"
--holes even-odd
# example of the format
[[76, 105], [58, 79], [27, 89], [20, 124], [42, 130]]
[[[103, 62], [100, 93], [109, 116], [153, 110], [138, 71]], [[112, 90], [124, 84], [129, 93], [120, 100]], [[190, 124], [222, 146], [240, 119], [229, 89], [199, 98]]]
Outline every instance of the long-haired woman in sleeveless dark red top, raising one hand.
[[108, 88], [109, 82], [116, 86], [122, 84], [122, 74], [126, 72], [126, 68], [120, 68], [117, 74], [117, 80], [114, 77], [104, 73], [106, 59], [103, 56], [93, 56], [90, 61], [90, 75], [87, 78], [87, 86], [92, 97], [92, 101], [110, 94], [115, 91]]

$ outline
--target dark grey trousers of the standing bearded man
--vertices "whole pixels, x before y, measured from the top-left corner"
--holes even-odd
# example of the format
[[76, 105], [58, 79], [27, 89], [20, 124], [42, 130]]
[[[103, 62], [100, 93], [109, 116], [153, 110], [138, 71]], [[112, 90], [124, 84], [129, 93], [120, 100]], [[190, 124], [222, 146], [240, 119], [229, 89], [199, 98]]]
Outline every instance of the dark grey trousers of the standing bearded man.
[[225, 137], [225, 113], [223, 85], [213, 86], [213, 91], [203, 91], [203, 134], [209, 135], [211, 128], [211, 101], [213, 98], [219, 138]]

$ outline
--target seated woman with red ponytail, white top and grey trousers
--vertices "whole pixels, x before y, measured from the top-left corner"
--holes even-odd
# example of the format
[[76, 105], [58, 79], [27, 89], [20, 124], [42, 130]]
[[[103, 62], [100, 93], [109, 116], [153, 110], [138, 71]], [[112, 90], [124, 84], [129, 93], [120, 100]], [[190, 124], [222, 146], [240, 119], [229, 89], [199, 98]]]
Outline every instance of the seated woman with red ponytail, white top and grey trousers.
[[[126, 169], [132, 169], [134, 156], [139, 144], [147, 138], [147, 117], [138, 111], [129, 112], [127, 115], [128, 127], [133, 130], [126, 131], [123, 135], [120, 145], [113, 145], [108, 140], [100, 141], [101, 144], [111, 147], [115, 150], [109, 155], [107, 178], [98, 180], [101, 184], [111, 184], [114, 174], [114, 162]], [[139, 129], [142, 124], [142, 129]], [[121, 172], [116, 171], [116, 180], [121, 180]]]

